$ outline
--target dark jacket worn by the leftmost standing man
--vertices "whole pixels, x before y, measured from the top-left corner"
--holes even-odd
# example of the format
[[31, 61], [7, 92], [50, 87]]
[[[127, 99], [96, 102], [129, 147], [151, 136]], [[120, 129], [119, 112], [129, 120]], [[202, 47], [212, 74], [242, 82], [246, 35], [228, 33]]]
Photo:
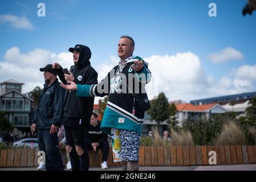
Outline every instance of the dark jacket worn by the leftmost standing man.
[[62, 123], [61, 110], [64, 101], [65, 90], [56, 80], [51, 84], [44, 84], [39, 97], [38, 106], [35, 110], [32, 123], [36, 123], [39, 129], [50, 129], [51, 125], [60, 126]]

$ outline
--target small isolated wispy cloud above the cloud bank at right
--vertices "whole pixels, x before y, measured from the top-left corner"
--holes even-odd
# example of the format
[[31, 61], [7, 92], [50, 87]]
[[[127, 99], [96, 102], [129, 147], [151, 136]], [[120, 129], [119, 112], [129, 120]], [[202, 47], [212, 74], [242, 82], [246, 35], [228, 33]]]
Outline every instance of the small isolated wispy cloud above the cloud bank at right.
[[208, 59], [212, 60], [213, 63], [224, 63], [230, 60], [241, 60], [243, 59], [243, 54], [232, 47], [227, 47], [220, 52], [210, 53]]

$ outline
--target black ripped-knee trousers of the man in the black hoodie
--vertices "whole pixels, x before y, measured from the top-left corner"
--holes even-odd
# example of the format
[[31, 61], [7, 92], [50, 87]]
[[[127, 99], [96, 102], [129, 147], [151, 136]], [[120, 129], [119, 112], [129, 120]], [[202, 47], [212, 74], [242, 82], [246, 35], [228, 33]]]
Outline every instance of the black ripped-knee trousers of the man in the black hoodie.
[[[86, 127], [70, 127], [64, 126], [67, 146], [72, 147], [70, 152], [70, 162], [73, 171], [88, 171], [90, 166], [90, 159], [87, 150]], [[79, 146], [83, 150], [82, 155], [78, 155], [75, 146]]]

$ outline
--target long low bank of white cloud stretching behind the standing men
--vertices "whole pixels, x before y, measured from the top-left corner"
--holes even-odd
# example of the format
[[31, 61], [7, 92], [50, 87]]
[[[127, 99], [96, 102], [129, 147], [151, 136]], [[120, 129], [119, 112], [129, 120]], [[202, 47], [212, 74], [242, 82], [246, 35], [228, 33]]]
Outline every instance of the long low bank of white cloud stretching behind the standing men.
[[[201, 66], [200, 58], [192, 52], [177, 53], [176, 55], [152, 55], [145, 57], [152, 72], [152, 80], [147, 86], [149, 99], [160, 92], [164, 92], [170, 100], [196, 100], [216, 96], [225, 96], [255, 90], [256, 65], [243, 65], [220, 81], [207, 75]], [[36, 48], [30, 52], [22, 53], [18, 47], [11, 47], [0, 62], [0, 82], [14, 78], [24, 82], [23, 93], [29, 92], [35, 86], [43, 86], [43, 73], [39, 68], [46, 64], [58, 61], [63, 68], [73, 65], [72, 53], [55, 53], [46, 49]], [[119, 58], [109, 56], [108, 60], [95, 66], [102, 80], [111, 71]], [[95, 98], [95, 103], [99, 97]]]

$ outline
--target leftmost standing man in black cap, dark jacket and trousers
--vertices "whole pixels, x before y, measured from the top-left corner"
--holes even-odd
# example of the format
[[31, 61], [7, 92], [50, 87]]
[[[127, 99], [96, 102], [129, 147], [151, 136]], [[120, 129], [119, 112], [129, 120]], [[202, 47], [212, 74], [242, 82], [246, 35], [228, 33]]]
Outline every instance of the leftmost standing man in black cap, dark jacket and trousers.
[[57, 72], [48, 64], [40, 68], [44, 76], [44, 88], [40, 94], [38, 106], [32, 121], [31, 131], [38, 129], [39, 150], [46, 154], [45, 166], [41, 163], [38, 169], [64, 170], [59, 152], [58, 127], [62, 122], [60, 111], [64, 101], [64, 89], [58, 82]]

